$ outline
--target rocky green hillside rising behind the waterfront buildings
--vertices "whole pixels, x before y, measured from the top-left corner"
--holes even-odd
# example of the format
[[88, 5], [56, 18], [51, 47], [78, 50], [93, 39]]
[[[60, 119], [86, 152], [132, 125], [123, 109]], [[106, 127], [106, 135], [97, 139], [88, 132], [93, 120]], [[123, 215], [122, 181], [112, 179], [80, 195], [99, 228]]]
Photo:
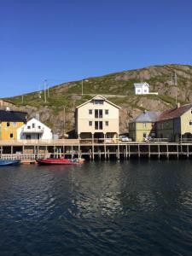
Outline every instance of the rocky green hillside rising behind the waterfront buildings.
[[[173, 71], [177, 73], [177, 86], [172, 85]], [[133, 84], [142, 80], [150, 84], [150, 91], [157, 91], [159, 95], [135, 96]], [[44, 102], [44, 93], [38, 91], [7, 100], [14, 102], [16, 109], [28, 112], [29, 118], [39, 113], [41, 121], [61, 135], [73, 131], [75, 107], [100, 94], [121, 107], [120, 131], [127, 132], [129, 120], [143, 110], [172, 108], [176, 104], [176, 93], [177, 101], [181, 104], [192, 102], [191, 89], [192, 66], [172, 64], [84, 79], [83, 96], [82, 81], [73, 81], [51, 87], [47, 102]]]

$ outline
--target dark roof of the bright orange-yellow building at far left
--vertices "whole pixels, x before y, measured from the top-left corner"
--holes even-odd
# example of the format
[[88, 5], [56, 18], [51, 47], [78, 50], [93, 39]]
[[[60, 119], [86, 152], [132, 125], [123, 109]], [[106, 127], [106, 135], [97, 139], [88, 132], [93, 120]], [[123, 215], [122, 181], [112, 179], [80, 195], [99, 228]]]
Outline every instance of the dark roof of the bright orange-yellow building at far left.
[[26, 123], [26, 112], [0, 110], [0, 121]]

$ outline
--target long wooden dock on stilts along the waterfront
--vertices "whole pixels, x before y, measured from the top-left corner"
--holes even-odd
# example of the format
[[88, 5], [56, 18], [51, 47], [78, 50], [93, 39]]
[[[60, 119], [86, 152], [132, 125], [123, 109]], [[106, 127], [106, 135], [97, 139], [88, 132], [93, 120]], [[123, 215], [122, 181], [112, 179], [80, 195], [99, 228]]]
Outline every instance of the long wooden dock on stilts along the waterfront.
[[83, 157], [89, 160], [130, 158], [191, 158], [192, 143], [98, 143], [96, 141], [0, 141], [2, 159], [35, 160], [36, 157]]

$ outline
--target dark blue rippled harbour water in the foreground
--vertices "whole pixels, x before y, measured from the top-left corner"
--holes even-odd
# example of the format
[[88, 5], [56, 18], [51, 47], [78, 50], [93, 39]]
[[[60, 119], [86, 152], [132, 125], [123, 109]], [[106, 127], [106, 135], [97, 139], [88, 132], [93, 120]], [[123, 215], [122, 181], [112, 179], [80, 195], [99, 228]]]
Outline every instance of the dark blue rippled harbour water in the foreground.
[[0, 255], [191, 255], [192, 161], [0, 168]]

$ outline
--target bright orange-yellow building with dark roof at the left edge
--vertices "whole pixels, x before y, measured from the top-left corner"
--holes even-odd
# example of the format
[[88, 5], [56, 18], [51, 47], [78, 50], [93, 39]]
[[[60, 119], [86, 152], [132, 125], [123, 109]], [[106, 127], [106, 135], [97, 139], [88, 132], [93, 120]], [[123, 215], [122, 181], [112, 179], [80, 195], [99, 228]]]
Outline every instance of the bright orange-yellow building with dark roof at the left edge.
[[26, 112], [0, 110], [0, 139], [17, 139], [17, 129], [26, 123]]

